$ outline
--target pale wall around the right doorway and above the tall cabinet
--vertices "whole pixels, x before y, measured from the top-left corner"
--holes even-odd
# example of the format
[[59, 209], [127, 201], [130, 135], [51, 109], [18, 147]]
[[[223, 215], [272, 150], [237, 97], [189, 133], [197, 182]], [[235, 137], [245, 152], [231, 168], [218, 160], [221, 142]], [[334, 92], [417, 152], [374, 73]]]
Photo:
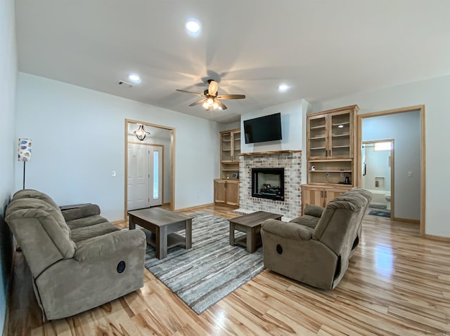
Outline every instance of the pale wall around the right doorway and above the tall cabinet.
[[357, 104], [359, 114], [425, 105], [425, 233], [446, 237], [450, 237], [450, 224], [442, 195], [450, 182], [442, 172], [450, 166], [450, 156], [446, 155], [446, 144], [450, 143], [449, 92], [450, 76], [442, 76], [312, 104], [314, 112]]

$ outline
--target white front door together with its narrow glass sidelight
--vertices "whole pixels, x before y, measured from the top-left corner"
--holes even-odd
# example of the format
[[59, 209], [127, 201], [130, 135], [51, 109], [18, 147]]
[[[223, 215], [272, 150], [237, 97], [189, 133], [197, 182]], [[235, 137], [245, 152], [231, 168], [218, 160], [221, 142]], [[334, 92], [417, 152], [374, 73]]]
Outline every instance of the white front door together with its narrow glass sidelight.
[[162, 206], [164, 146], [128, 144], [127, 210]]

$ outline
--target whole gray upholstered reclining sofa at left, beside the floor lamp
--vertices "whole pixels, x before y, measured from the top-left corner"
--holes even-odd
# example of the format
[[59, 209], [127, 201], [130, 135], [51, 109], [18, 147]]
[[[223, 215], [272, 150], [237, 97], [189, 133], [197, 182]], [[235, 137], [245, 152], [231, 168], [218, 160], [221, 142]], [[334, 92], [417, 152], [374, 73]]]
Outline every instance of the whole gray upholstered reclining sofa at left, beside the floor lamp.
[[92, 204], [61, 212], [36, 190], [20, 190], [6, 208], [30, 267], [44, 319], [78, 314], [143, 286], [146, 236], [120, 231]]

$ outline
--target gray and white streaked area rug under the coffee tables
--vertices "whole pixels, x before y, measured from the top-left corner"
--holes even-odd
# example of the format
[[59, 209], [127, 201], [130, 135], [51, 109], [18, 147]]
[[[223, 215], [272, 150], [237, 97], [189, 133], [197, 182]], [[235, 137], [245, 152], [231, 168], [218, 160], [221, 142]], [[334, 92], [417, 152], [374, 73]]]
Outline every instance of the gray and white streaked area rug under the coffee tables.
[[165, 259], [158, 260], [155, 249], [147, 245], [146, 268], [201, 314], [264, 267], [261, 247], [248, 253], [242, 246], [230, 246], [228, 220], [196, 213], [192, 220], [192, 249], [175, 246], [167, 250]]

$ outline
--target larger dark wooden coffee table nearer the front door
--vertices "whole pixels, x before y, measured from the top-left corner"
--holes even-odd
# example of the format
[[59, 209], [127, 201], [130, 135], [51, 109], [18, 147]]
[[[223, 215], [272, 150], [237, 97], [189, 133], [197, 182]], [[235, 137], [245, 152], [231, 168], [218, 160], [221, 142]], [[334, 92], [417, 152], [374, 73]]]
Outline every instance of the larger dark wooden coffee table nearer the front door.
[[[167, 257], [167, 248], [184, 246], [192, 248], [192, 216], [181, 215], [162, 208], [150, 208], [128, 211], [129, 229], [136, 229], [136, 224], [152, 233], [150, 245], [156, 249], [156, 257]], [[186, 237], [174, 234], [185, 230]]]

